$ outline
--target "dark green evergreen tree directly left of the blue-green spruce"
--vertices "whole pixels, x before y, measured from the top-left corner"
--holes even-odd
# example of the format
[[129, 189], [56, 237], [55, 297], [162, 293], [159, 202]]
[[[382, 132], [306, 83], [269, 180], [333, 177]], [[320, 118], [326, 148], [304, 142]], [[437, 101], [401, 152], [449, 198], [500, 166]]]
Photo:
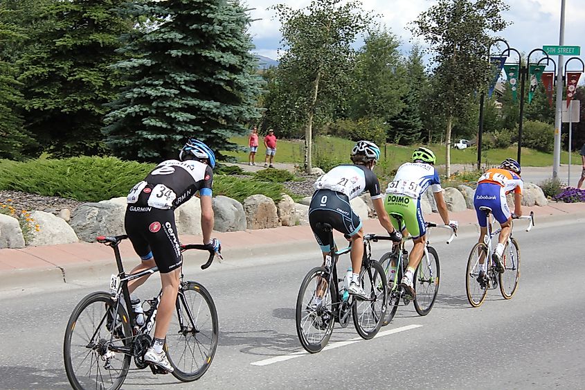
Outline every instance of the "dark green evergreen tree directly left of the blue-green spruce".
[[105, 103], [120, 78], [119, 37], [132, 20], [116, 10], [125, 0], [39, 1], [19, 58], [27, 130], [55, 157], [104, 152]]

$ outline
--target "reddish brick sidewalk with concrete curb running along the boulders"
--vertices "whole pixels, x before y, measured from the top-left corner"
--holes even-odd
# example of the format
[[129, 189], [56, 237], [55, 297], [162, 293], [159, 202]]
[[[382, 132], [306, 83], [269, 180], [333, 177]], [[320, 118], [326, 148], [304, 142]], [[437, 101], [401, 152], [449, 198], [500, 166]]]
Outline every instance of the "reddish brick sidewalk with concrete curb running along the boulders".
[[[585, 218], [584, 203], [551, 203], [545, 207], [524, 207], [523, 211], [526, 215], [534, 211], [537, 228], [541, 222]], [[475, 211], [451, 213], [450, 217], [459, 222], [461, 233], [477, 231]], [[425, 219], [442, 223], [438, 213], [425, 215]], [[366, 233], [385, 233], [377, 220], [364, 221], [364, 230]], [[318, 251], [308, 226], [215, 232], [213, 236], [222, 241], [222, 254], [225, 259], [223, 262], [227, 264], [269, 258], [275, 253], [290, 253], [293, 256]], [[183, 243], [197, 243], [200, 240], [199, 236], [181, 236]], [[339, 240], [343, 240], [341, 235]], [[120, 251], [126, 270], [129, 271], [138, 263], [138, 256], [127, 240], [120, 244]], [[198, 251], [188, 251], [185, 254], [185, 262], [193, 267], [204, 263], [204, 260], [206, 256], [201, 256], [201, 252]], [[88, 277], [104, 278], [104, 275], [115, 272], [114, 264], [112, 249], [97, 242], [0, 249], [0, 289], [30, 286], [41, 281], [69, 283]]]

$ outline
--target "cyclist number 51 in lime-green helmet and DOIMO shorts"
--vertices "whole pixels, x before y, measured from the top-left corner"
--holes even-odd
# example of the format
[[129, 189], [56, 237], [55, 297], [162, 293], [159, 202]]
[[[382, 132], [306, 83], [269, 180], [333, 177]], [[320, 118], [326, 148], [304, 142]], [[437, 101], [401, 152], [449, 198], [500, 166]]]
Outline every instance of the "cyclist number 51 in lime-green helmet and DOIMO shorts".
[[[443, 199], [443, 193], [439, 174], [435, 169], [435, 154], [427, 148], [418, 148], [413, 152], [413, 162], [404, 163], [396, 172], [393, 181], [388, 183], [384, 208], [390, 214], [393, 224], [402, 232], [413, 237], [414, 247], [408, 256], [408, 267], [400, 284], [406, 294], [414, 298], [413, 275], [416, 267], [422, 259], [424, 245], [426, 244], [426, 226], [420, 209], [420, 197], [429, 187], [433, 191], [439, 215], [444, 224], [449, 224], [457, 229], [457, 222], [449, 220], [449, 211]], [[397, 221], [391, 213], [402, 215], [402, 226], [397, 226]], [[396, 264], [391, 265], [390, 272], [396, 272]], [[388, 278], [393, 280], [393, 275]]]

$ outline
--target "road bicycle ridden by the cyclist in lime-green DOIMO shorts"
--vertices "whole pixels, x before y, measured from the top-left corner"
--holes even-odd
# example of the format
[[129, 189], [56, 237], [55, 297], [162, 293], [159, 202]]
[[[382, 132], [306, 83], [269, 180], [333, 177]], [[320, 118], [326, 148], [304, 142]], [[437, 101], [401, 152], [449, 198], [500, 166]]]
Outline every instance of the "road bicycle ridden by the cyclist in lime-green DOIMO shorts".
[[[397, 220], [398, 226], [402, 226], [402, 220], [404, 219], [402, 214], [390, 213], [390, 216]], [[447, 240], [447, 244], [455, 238], [456, 232], [449, 225], [425, 222], [425, 226], [429, 229], [440, 228], [450, 230], [451, 236]], [[427, 234], [429, 233], [430, 231], [427, 231]], [[382, 255], [380, 260], [378, 260], [382, 269], [384, 269], [386, 279], [388, 279], [388, 310], [386, 310], [386, 317], [382, 323], [384, 326], [388, 325], [394, 318], [400, 301], [404, 305], [408, 305], [411, 302], [411, 299], [405, 296], [404, 288], [399, 284], [408, 266], [408, 251], [404, 249], [404, 244], [406, 240], [411, 239], [411, 237], [408, 237], [402, 240], [402, 242], [393, 245], [392, 251]], [[390, 273], [392, 267], [396, 267], [396, 272], [393, 276]], [[413, 287], [415, 290], [413, 301], [416, 312], [421, 316], [429, 314], [435, 304], [435, 299], [437, 299], [439, 292], [440, 274], [439, 255], [435, 248], [431, 247], [431, 242], [427, 236], [422, 259], [415, 269], [413, 276]]]

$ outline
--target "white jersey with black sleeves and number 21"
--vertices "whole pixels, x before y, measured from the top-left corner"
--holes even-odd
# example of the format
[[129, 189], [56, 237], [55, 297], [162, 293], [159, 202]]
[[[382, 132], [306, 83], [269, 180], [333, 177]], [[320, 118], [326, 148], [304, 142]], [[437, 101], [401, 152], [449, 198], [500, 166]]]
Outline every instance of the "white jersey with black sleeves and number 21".
[[368, 190], [372, 199], [382, 197], [380, 183], [375, 173], [366, 166], [336, 166], [315, 181], [315, 190], [333, 190], [343, 193], [352, 200], [363, 191]]

